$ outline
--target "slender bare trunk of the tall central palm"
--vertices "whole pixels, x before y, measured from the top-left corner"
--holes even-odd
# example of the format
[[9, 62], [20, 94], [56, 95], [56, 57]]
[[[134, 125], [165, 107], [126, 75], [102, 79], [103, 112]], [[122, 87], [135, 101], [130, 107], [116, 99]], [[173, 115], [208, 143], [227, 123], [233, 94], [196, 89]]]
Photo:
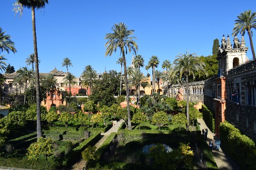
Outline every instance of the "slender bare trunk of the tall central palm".
[[125, 83], [126, 101], [127, 101], [128, 129], [132, 130], [130, 105], [129, 105], [129, 89], [128, 89], [128, 79], [127, 79], [127, 70], [126, 70], [126, 61], [125, 61], [124, 49], [122, 49], [122, 55], [123, 55], [123, 61], [124, 61], [124, 83]]

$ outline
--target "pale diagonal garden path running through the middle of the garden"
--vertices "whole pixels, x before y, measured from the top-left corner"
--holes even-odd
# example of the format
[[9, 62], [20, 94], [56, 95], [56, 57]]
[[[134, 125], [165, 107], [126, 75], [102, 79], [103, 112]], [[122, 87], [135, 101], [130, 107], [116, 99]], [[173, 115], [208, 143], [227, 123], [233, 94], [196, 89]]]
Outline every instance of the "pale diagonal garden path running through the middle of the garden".
[[[115, 125], [112, 126], [108, 131], [106, 131], [105, 133], [101, 133], [102, 138], [94, 146], [98, 149], [102, 145], [102, 143], [107, 139], [107, 137], [110, 135], [110, 133], [118, 131], [120, 125], [123, 122], [124, 122], [124, 120], [121, 119], [120, 121], [117, 121], [115, 123]], [[70, 170], [82, 170], [84, 168], [84, 166], [85, 166], [85, 163], [86, 163], [86, 161], [81, 158], [78, 162], [76, 162], [76, 164], [74, 164], [71, 167]]]

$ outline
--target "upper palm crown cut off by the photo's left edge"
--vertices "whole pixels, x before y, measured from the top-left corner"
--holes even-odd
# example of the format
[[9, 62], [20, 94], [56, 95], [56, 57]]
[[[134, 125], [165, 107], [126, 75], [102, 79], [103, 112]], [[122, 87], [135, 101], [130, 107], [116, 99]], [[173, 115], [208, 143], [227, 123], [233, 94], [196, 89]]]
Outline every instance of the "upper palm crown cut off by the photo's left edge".
[[5, 31], [3, 32], [2, 27], [0, 27], [0, 54], [3, 51], [6, 51], [8, 54], [10, 51], [16, 53], [16, 49], [14, 48], [14, 42], [11, 40], [10, 35], [4, 35]]

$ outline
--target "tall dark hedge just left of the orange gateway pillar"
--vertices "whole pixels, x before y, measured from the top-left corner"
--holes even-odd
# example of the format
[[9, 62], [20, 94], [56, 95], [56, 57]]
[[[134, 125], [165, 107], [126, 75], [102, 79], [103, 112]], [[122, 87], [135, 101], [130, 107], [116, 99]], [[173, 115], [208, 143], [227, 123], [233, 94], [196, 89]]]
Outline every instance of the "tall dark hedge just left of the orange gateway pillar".
[[212, 133], [215, 132], [215, 113], [210, 111], [205, 105], [202, 105], [203, 119]]

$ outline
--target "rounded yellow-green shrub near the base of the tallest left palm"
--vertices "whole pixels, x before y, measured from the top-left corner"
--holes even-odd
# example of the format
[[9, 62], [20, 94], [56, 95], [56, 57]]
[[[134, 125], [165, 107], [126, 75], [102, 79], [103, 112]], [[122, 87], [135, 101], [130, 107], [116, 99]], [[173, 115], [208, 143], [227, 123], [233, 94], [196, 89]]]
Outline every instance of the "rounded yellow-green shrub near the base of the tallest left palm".
[[52, 139], [40, 137], [28, 147], [28, 153], [26, 155], [28, 159], [38, 160], [42, 156], [49, 156], [52, 153], [51, 149]]

